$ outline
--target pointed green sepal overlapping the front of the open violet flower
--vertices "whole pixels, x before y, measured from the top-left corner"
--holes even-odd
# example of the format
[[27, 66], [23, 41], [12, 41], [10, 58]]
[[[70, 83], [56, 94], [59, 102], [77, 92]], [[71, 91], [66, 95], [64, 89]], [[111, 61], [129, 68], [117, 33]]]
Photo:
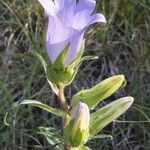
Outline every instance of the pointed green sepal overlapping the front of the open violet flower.
[[68, 44], [63, 51], [59, 54], [59, 56], [57, 57], [57, 59], [55, 60], [54, 64], [53, 64], [53, 68], [57, 69], [57, 70], [64, 70], [64, 61], [68, 52], [70, 44]]

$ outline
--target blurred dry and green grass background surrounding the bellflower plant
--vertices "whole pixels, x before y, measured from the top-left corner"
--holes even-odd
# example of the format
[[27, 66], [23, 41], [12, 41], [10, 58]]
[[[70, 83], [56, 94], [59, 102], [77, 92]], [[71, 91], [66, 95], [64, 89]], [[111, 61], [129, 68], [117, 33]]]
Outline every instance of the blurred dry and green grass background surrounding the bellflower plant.
[[[75, 81], [66, 88], [67, 99], [84, 88], [116, 74], [124, 74], [127, 86], [103, 106], [131, 95], [134, 104], [100, 134], [110, 139], [93, 139], [93, 150], [150, 149], [150, 1], [97, 0], [96, 12], [107, 24], [87, 30], [85, 55], [98, 60], [84, 62]], [[59, 107], [40, 62], [29, 51], [44, 49], [43, 10], [35, 0], [0, 0], [0, 150], [47, 150], [50, 147], [39, 126], [61, 129], [61, 120], [30, 106], [12, 109], [14, 102], [36, 99]], [[4, 117], [8, 113], [7, 123]]]

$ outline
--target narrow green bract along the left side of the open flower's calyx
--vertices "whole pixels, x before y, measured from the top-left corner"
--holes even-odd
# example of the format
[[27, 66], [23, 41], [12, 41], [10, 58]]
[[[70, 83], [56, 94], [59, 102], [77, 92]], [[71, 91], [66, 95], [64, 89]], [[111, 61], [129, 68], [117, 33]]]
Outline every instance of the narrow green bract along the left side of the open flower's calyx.
[[46, 74], [46, 78], [47, 78], [47, 81], [48, 83], [50, 84], [52, 90], [55, 92], [56, 95], [58, 95], [58, 87], [56, 86], [56, 84], [54, 84], [54, 82], [52, 82], [54, 79], [53, 76], [51, 76], [51, 78], [49, 78], [48, 74], [54, 74], [54, 72], [52, 72], [51, 70], [51, 66], [47, 66], [47, 63], [45, 62], [44, 58], [37, 52], [35, 51], [31, 51], [31, 53], [36, 56], [38, 58], [38, 60], [41, 62], [43, 68], [44, 68], [44, 71], [45, 71], [45, 74]]

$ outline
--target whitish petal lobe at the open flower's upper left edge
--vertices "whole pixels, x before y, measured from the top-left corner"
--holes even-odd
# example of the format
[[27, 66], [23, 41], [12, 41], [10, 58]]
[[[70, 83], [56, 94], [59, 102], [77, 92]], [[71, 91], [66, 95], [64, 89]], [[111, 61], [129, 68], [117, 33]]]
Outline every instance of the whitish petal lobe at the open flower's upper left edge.
[[58, 8], [52, 0], [38, 0], [45, 10], [46, 16], [55, 16], [58, 13]]

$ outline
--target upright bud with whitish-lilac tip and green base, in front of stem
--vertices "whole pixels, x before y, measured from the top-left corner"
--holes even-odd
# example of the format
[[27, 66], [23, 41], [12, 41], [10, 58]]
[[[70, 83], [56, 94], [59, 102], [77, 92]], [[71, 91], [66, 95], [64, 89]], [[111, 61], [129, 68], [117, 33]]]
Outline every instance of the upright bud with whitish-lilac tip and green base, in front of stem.
[[90, 113], [87, 104], [79, 102], [71, 110], [71, 118], [65, 129], [65, 136], [71, 147], [78, 147], [85, 144], [89, 138]]

